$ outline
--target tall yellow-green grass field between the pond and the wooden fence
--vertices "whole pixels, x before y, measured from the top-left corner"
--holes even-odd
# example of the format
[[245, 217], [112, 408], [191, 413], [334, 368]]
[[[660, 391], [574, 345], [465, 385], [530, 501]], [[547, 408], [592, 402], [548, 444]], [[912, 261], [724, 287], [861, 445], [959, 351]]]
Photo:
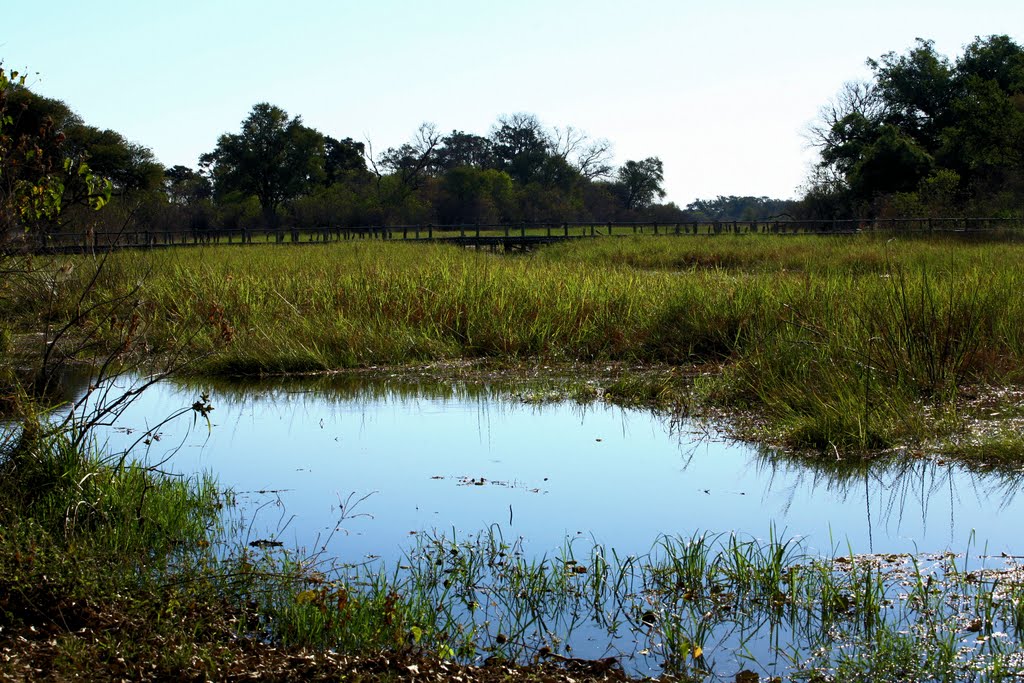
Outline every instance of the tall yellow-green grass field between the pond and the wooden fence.
[[[8, 346], [82, 315], [105, 350], [184, 351], [210, 376], [486, 359], [718, 369], [624, 378], [621, 400], [750, 411], [749, 436], [877, 450], [954, 437], [966, 384], [1020, 380], [1024, 246], [950, 238], [640, 238], [526, 256], [349, 242], [85, 257], [0, 296]], [[8, 289], [11, 285], [7, 286]], [[130, 313], [90, 319], [90, 303]], [[634, 386], [630, 386], [631, 383]], [[685, 400], [684, 400], [685, 399]], [[1006, 450], [1006, 439], [1000, 447]]]

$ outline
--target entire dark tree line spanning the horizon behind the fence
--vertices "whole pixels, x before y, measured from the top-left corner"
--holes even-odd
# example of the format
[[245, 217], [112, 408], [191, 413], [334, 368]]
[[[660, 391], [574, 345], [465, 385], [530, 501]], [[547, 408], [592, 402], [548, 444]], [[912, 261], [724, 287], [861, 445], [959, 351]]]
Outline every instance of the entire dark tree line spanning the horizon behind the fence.
[[165, 168], [0, 69], [0, 230], [1019, 216], [1024, 48], [976, 38], [951, 60], [919, 39], [867, 63], [872, 78], [845, 84], [810, 127], [819, 159], [800, 199], [685, 208], [664, 203], [657, 156], [616, 167], [608, 140], [526, 113], [485, 134], [425, 123], [375, 150], [261, 102], [195, 167]]

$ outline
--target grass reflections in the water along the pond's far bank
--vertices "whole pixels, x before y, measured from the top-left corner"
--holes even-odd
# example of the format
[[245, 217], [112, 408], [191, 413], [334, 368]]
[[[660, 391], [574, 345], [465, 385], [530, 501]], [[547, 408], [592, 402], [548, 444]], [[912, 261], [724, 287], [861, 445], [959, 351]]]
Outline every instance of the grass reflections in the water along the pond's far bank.
[[[324, 401], [377, 401], [420, 398], [459, 400], [513, 400], [529, 403], [564, 401], [573, 396], [581, 403], [580, 410], [598, 399], [622, 400], [615, 394], [617, 387], [641, 385], [643, 391], [632, 390], [627, 395], [647, 396], [663, 391], [672, 382], [679, 381], [673, 372], [659, 372], [646, 378], [628, 376], [626, 378], [603, 377], [589, 379], [581, 375], [569, 380], [563, 377], [545, 375], [525, 378], [515, 375], [515, 370], [488, 369], [489, 382], [478, 383], [451, 377], [445, 371], [424, 371], [423, 374], [334, 374], [305, 378], [267, 378], [263, 380], [202, 380], [193, 384], [182, 380], [184, 386], [197, 389], [216, 387], [218, 401], [242, 402], [255, 396], [310, 395]], [[477, 371], [479, 372], [479, 371]], [[478, 379], [479, 376], [477, 375]], [[567, 382], [575, 382], [568, 384]], [[700, 424], [682, 417], [678, 413], [662, 414], [668, 433], [685, 435], [693, 447], [702, 437]], [[1001, 432], [1000, 432], [1001, 433]], [[882, 521], [900, 519], [906, 506], [922, 505], [930, 498], [953, 495], [951, 487], [966, 485], [983, 496], [996, 508], [1006, 507], [1020, 493], [1024, 485], [1017, 451], [1020, 435], [1017, 432], [1006, 435], [1005, 449], [1000, 452], [997, 441], [988, 440], [983, 446], [973, 446], [969, 452], [964, 443], [955, 446], [965, 457], [949, 455], [929, 455], [924, 450], [901, 450], [869, 457], [857, 454], [840, 454], [833, 450], [828, 457], [814, 451], [785, 451], [760, 447], [754, 453], [754, 465], [761, 471], [759, 478], [772, 482], [780, 478], [794, 492], [824, 488], [840, 499], [848, 497], [869, 497], [873, 514]], [[982, 457], [983, 456], [983, 457]], [[1002, 457], [999, 457], [1002, 456]], [[684, 457], [684, 467], [687, 458]], [[955, 484], [962, 480], [962, 484]]]

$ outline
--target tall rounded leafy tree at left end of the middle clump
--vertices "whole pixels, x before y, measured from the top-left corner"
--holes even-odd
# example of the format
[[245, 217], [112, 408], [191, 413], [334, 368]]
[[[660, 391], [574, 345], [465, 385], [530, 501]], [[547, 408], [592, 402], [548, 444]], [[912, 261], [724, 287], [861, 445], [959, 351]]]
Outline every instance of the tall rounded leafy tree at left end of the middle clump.
[[285, 110], [261, 102], [242, 122], [240, 133], [221, 135], [217, 147], [200, 158], [213, 177], [214, 193], [255, 197], [268, 222], [278, 209], [309, 191], [324, 178], [324, 136], [288, 118]]

